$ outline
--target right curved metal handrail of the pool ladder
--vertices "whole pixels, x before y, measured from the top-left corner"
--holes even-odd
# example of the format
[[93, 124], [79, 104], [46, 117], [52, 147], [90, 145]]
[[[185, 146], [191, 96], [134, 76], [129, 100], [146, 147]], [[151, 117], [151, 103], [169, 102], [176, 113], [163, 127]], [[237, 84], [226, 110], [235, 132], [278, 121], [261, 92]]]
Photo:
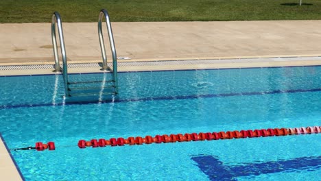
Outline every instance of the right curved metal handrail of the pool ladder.
[[112, 75], [114, 77], [115, 81], [115, 90], [116, 93], [118, 93], [118, 81], [117, 81], [117, 55], [116, 55], [116, 48], [114, 43], [114, 37], [112, 36], [112, 27], [110, 25], [110, 19], [109, 14], [107, 10], [102, 9], [99, 12], [99, 18], [98, 18], [98, 36], [99, 36], [99, 43], [100, 43], [100, 49], [102, 50], [102, 59], [103, 59], [103, 67], [102, 70], [107, 70], [107, 58], [106, 58], [106, 49], [104, 44], [104, 36], [102, 34], [102, 19], [105, 17], [106, 19], [106, 25], [108, 30], [108, 36], [109, 36], [109, 43], [110, 48], [112, 51]]

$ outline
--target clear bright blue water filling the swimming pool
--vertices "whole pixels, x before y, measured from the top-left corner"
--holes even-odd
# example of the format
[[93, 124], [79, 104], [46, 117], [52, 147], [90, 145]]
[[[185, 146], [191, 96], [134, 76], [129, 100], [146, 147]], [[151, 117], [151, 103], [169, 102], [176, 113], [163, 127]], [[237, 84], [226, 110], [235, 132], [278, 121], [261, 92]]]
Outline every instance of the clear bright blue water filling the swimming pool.
[[[102, 80], [110, 74], [69, 79]], [[321, 67], [119, 73], [119, 97], [64, 100], [60, 75], [0, 77], [0, 132], [25, 180], [318, 180], [321, 134], [79, 149], [80, 139], [321, 125]]]

